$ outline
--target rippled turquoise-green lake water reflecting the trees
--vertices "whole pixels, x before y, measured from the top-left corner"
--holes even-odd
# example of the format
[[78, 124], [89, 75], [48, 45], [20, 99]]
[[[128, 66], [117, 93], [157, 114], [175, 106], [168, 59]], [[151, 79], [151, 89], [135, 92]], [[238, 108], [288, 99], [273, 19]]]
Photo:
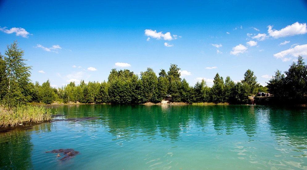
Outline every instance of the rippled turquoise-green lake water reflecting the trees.
[[[55, 121], [0, 134], [0, 169], [307, 169], [306, 107], [89, 104], [53, 110]], [[80, 153], [63, 161], [64, 155], [47, 153], [70, 148]]]

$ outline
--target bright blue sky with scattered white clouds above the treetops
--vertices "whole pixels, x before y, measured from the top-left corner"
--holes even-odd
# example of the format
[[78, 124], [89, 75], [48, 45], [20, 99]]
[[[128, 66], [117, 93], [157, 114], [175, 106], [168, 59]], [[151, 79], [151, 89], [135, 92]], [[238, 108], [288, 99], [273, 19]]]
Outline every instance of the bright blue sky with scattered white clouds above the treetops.
[[[190, 86], [247, 69], [261, 85], [307, 57], [307, 3], [293, 1], [0, 1], [0, 52], [18, 40], [31, 80], [53, 87], [181, 69]], [[306, 59], [305, 59], [305, 62]], [[140, 75], [140, 74], [139, 74]]]

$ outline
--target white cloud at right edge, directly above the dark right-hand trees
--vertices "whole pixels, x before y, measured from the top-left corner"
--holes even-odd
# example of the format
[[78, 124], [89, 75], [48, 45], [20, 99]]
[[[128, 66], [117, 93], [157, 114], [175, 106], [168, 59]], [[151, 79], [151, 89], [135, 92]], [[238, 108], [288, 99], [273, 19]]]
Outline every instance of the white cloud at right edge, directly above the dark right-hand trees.
[[274, 54], [274, 57], [280, 58], [283, 62], [286, 62], [292, 59], [291, 57], [285, 57], [289, 55], [292, 57], [297, 57], [299, 55], [306, 56], [307, 55], [307, 44], [297, 45], [294, 48], [281, 51], [279, 53]]

